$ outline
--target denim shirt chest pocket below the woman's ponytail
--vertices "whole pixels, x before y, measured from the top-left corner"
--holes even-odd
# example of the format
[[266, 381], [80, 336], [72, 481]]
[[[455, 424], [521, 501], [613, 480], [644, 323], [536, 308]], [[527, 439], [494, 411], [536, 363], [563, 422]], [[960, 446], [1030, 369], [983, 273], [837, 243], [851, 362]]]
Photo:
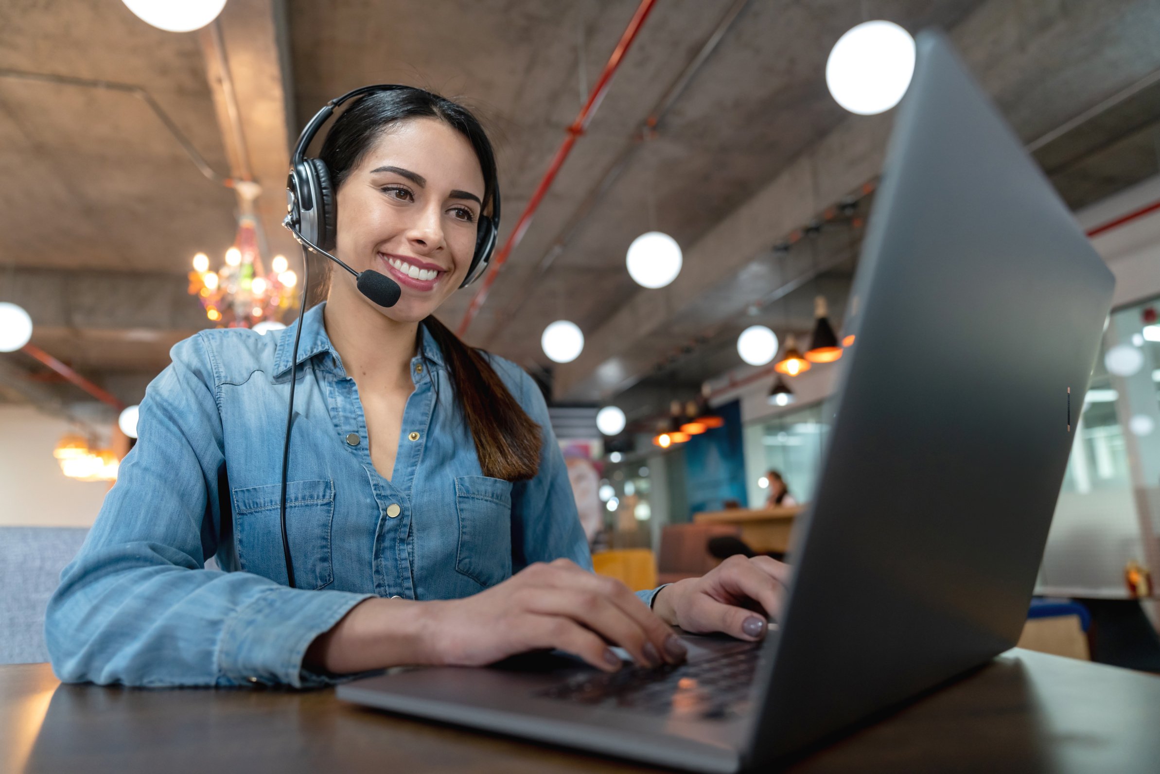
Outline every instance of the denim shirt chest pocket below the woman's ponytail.
[[459, 548], [455, 569], [481, 586], [512, 576], [512, 482], [487, 476], [455, 479]]

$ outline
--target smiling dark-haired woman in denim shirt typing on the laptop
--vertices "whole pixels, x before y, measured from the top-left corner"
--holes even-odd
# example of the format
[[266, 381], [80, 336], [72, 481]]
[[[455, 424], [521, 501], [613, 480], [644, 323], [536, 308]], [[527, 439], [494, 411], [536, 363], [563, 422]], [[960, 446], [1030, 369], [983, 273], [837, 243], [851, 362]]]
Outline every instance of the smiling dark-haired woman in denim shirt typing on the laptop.
[[[173, 348], [50, 602], [57, 674], [302, 687], [544, 648], [615, 671], [609, 643], [674, 664], [684, 649], [669, 624], [760, 638], [766, 620], [745, 606], [776, 615], [786, 569], [770, 559], [639, 598], [593, 574], [539, 390], [433, 316], [496, 189], [477, 120], [419, 89], [372, 93], [339, 116], [320, 158], [336, 254], [393, 277], [400, 301], [377, 306], [333, 277], [300, 320], [297, 363], [293, 326], [203, 331]], [[293, 588], [278, 520], [291, 378]]]

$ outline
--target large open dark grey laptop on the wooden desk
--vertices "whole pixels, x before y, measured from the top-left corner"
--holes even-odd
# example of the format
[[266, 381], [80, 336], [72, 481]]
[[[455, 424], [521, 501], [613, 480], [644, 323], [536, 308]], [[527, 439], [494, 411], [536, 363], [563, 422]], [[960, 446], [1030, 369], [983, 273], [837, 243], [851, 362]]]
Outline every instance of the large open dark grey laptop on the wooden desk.
[[760, 644], [340, 686], [393, 712], [695, 772], [767, 764], [1016, 643], [1114, 280], [944, 37], [918, 37], [851, 289], [821, 475]]

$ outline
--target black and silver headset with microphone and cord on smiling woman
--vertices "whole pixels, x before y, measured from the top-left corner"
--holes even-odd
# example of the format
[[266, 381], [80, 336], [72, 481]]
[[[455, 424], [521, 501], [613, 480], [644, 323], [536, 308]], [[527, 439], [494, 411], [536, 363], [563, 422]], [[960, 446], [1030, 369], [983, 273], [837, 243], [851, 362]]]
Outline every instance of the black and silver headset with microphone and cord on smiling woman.
[[[334, 109], [343, 102], [377, 92], [393, 91], [416, 91], [413, 86], [399, 86], [394, 84], [379, 84], [376, 86], [363, 86], [347, 92], [342, 96], [335, 97], [322, 106], [322, 109], [314, 114], [306, 126], [298, 136], [298, 144], [295, 145], [293, 154], [290, 157], [290, 176], [287, 179], [287, 217], [282, 222], [293, 234], [295, 239], [303, 247], [303, 283], [302, 303], [298, 309], [298, 327], [293, 337], [293, 353], [290, 357], [290, 402], [287, 408], [287, 431], [282, 446], [282, 495], [278, 500], [278, 518], [282, 526], [282, 554], [285, 557], [287, 580], [290, 587], [295, 587], [293, 562], [290, 558], [290, 541], [287, 538], [287, 470], [290, 462], [290, 429], [293, 424], [293, 392], [297, 383], [296, 374], [298, 367], [298, 341], [302, 337], [302, 319], [306, 313], [306, 289], [310, 287], [310, 269], [306, 261], [306, 251], [313, 251], [324, 255], [340, 267], [349, 272], [356, 280], [358, 291], [370, 298], [379, 306], [394, 306], [399, 302], [403, 290], [399, 284], [372, 269], [355, 272], [329, 251], [334, 249], [335, 231], [338, 227], [338, 201], [334, 187], [331, 185], [331, 171], [321, 159], [306, 158], [306, 149], [310, 146], [314, 135], [322, 124], [334, 114]], [[425, 92], [427, 93], [427, 92]], [[461, 288], [478, 280], [487, 270], [492, 254], [495, 252], [495, 240], [500, 227], [500, 190], [499, 181], [492, 186], [492, 214], [490, 216], [480, 214], [476, 226], [476, 252], [471, 256], [471, 266], [464, 277]]]

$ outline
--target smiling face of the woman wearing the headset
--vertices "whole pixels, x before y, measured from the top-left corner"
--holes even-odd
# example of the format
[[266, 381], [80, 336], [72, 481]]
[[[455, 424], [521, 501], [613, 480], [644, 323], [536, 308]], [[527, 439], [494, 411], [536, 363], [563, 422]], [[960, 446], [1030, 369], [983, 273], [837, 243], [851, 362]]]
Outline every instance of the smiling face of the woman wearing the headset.
[[331, 302], [361, 299], [386, 317], [415, 323], [463, 282], [476, 251], [484, 174], [467, 138], [442, 121], [409, 118], [384, 131], [338, 191], [339, 258], [403, 289], [384, 309], [355, 279], [334, 272]]

